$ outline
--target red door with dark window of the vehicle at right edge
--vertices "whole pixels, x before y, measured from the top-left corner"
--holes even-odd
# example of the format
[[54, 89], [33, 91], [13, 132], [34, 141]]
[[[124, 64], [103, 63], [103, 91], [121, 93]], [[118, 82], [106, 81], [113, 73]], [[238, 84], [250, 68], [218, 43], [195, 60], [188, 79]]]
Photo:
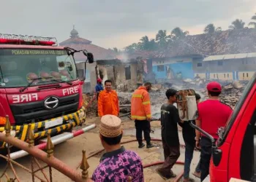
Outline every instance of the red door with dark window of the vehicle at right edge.
[[[228, 178], [238, 177], [253, 181], [255, 178], [256, 159], [256, 84], [252, 87], [244, 102], [244, 109], [238, 114], [236, 132], [230, 143]], [[254, 144], [255, 143], [255, 144]], [[256, 179], [256, 178], [255, 178]]]

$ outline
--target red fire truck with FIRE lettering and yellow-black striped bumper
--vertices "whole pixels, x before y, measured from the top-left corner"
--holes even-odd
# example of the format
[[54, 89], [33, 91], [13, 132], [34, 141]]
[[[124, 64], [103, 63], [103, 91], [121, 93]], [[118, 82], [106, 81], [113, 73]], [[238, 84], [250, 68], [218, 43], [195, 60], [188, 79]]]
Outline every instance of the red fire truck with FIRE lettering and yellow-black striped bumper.
[[85, 122], [85, 78], [78, 79], [73, 56], [83, 52], [93, 63], [93, 55], [54, 44], [55, 38], [0, 33], [0, 132], [7, 115], [12, 135], [22, 141], [29, 124], [38, 140]]

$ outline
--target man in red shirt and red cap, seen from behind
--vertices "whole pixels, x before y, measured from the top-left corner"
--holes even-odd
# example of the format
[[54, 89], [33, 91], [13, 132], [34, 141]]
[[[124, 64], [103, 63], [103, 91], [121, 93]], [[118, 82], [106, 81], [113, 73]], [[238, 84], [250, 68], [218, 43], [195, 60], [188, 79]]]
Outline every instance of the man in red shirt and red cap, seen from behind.
[[[203, 101], [197, 105], [198, 118], [196, 120], [197, 127], [208, 132], [217, 141], [219, 136], [217, 131], [219, 127], [225, 127], [227, 120], [232, 113], [232, 108], [222, 103], [219, 100], [219, 95], [222, 92], [222, 86], [218, 82], [210, 82], [207, 85], [208, 100]], [[209, 174], [209, 167], [211, 161], [211, 141], [202, 134], [200, 139], [200, 132], [196, 131], [196, 146], [201, 148], [200, 167], [203, 181]]]

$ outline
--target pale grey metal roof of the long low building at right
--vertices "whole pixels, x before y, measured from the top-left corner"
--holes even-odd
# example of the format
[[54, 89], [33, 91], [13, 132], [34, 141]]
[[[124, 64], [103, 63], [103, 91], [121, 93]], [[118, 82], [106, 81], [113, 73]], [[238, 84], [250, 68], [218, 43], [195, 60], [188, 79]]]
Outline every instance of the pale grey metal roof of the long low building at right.
[[241, 59], [241, 58], [256, 58], [256, 52], [232, 54], [232, 55], [210, 55], [204, 58], [203, 61], [230, 60], [230, 59]]

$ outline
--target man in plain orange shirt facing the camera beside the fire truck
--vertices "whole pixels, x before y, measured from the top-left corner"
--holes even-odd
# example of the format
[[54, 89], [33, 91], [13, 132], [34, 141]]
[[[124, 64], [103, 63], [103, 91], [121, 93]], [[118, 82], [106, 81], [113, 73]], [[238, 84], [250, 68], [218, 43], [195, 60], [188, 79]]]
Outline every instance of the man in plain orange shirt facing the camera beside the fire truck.
[[111, 114], [118, 116], [119, 114], [119, 105], [118, 105], [118, 96], [115, 90], [112, 90], [112, 81], [105, 81], [105, 90], [99, 92], [98, 98], [98, 111], [99, 116], [102, 117], [106, 114]]

